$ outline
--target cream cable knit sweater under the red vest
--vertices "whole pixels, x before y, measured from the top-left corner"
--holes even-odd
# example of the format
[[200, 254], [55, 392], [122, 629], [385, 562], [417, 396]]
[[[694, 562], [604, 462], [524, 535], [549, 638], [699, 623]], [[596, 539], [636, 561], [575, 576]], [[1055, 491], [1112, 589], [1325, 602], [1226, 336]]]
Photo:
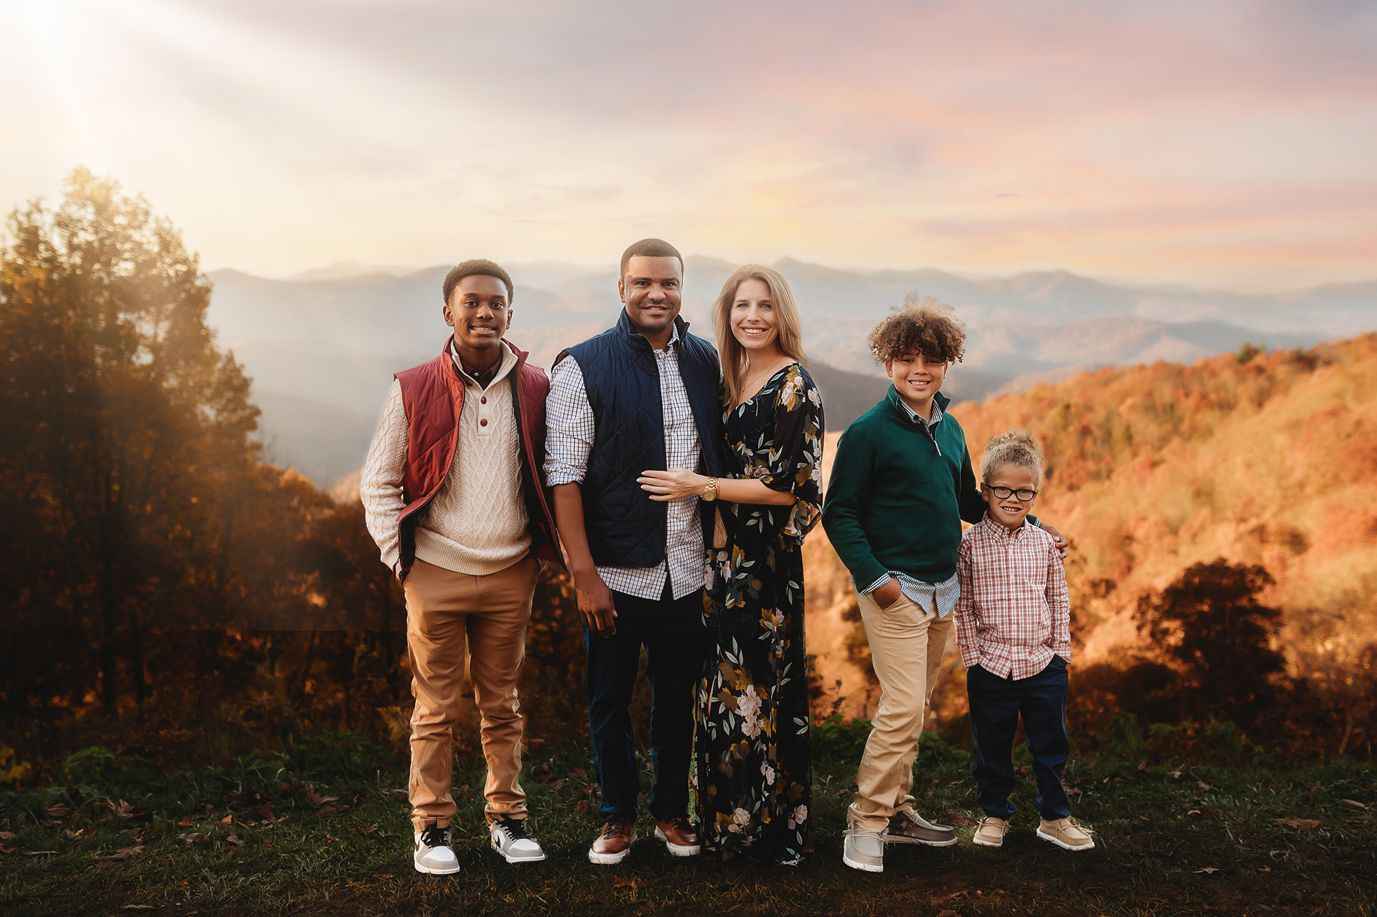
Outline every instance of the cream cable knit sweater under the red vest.
[[[501, 369], [486, 390], [460, 370], [464, 409], [459, 416], [459, 449], [445, 483], [416, 526], [416, 556], [425, 563], [486, 576], [505, 570], [530, 549], [512, 409], [515, 366], [516, 355], [503, 347]], [[394, 379], [359, 481], [368, 530], [392, 571], [401, 566], [398, 525], [406, 505], [406, 436], [402, 387]]]

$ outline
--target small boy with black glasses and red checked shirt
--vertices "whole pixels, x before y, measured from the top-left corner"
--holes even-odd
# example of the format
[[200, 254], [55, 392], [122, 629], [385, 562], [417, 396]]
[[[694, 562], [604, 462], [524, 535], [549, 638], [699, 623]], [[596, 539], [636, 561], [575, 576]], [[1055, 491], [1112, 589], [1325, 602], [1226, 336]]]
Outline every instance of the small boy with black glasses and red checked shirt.
[[975, 800], [985, 818], [972, 839], [1001, 847], [1013, 792], [1013, 734], [1023, 717], [1037, 777], [1037, 836], [1070, 851], [1095, 841], [1070, 818], [1062, 771], [1071, 602], [1052, 536], [1027, 525], [1042, 482], [1042, 447], [1026, 430], [990, 436], [980, 463], [985, 518], [961, 536], [956, 633], [975, 734]]

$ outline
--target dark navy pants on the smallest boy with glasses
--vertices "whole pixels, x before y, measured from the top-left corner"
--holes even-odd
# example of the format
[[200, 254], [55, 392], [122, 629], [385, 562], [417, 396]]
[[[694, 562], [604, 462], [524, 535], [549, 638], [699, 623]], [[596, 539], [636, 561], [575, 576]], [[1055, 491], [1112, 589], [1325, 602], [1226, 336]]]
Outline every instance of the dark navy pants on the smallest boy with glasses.
[[1037, 777], [1037, 811], [1048, 819], [1066, 818], [1071, 805], [1062, 788], [1062, 771], [1071, 752], [1066, 735], [1066, 660], [1053, 655], [1045, 669], [1026, 679], [1001, 679], [979, 665], [965, 671], [975, 734], [975, 801], [986, 815], [1005, 821], [1013, 815], [1013, 734], [1023, 732]]

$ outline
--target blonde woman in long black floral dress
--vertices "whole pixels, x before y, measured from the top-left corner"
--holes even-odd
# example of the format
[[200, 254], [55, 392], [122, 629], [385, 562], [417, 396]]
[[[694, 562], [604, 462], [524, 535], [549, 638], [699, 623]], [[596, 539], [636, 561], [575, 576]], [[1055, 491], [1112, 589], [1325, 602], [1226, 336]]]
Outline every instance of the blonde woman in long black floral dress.
[[793, 865], [812, 850], [803, 538], [822, 511], [822, 399], [777, 271], [739, 268], [713, 319], [730, 478], [675, 470], [640, 481], [653, 500], [722, 498], [704, 600], [715, 647], [695, 709], [704, 847], [722, 859]]

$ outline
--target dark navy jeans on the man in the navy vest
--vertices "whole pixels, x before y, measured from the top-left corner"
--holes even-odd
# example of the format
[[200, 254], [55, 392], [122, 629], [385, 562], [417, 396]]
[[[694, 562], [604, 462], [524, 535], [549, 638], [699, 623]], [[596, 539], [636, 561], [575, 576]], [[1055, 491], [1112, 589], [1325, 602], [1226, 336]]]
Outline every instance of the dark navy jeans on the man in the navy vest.
[[613, 592], [617, 633], [584, 631], [588, 650], [588, 717], [593, 763], [602, 788], [602, 821], [636, 818], [640, 771], [631, 726], [631, 695], [646, 647], [650, 680], [650, 755], [655, 783], [650, 814], [666, 821], [688, 811], [693, 759], [694, 687], [702, 677], [708, 644], [702, 629], [702, 591], [653, 602]]

